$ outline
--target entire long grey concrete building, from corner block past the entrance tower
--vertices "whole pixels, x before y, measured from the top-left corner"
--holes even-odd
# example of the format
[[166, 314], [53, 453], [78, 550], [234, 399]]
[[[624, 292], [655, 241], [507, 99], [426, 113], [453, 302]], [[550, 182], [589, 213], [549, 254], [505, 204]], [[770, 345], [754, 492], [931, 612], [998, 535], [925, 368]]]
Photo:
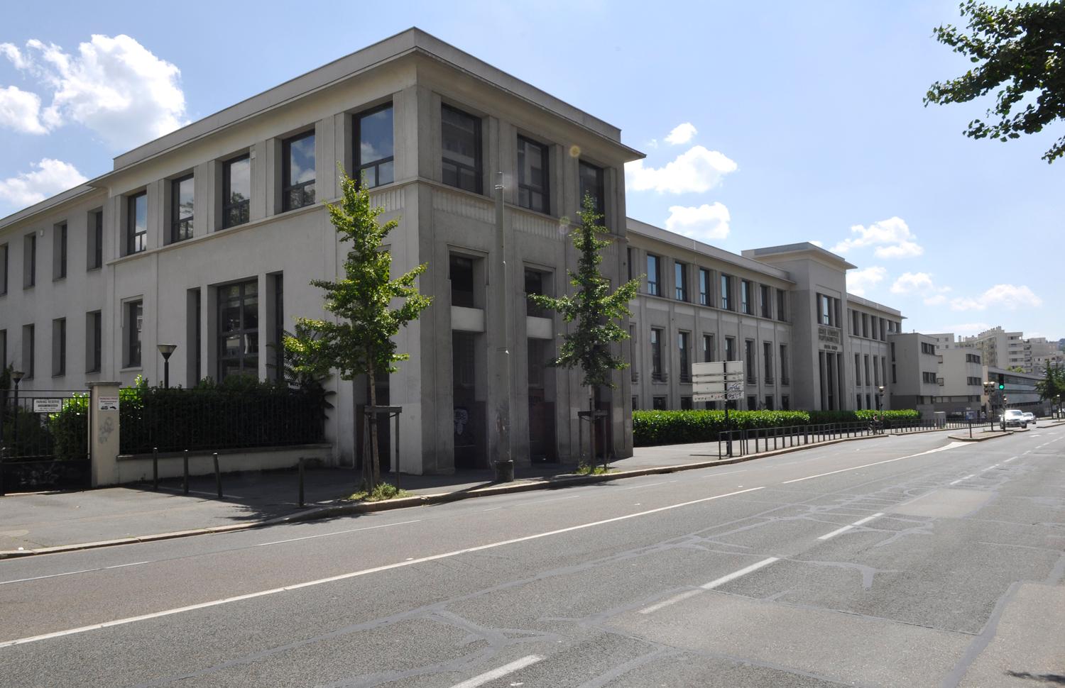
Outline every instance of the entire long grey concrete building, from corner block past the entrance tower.
[[[624, 164], [640, 156], [616, 127], [409, 30], [0, 220], [0, 356], [36, 390], [159, 382], [160, 343], [178, 347], [176, 384], [276, 375], [283, 331], [326, 315], [309, 282], [342, 273], [322, 204], [340, 167], [398, 220], [394, 270], [428, 264], [433, 303], [397, 340], [411, 358], [375, 381], [379, 403], [403, 407], [405, 471], [482, 467], [508, 424], [519, 464], [578, 451], [588, 391], [546, 365], [566, 325], [525, 295], [569, 289], [567, 218], [586, 194], [610, 232], [605, 274], [644, 275], [621, 348], [632, 370], [601, 404], [615, 455], [632, 453], [633, 407], [691, 405], [701, 360], [747, 363], [738, 407], [873, 408], [881, 386], [891, 405], [902, 315], [847, 293], [853, 265], [810, 244], [737, 255], [626, 220]], [[367, 383], [330, 385], [327, 434], [347, 462]]]

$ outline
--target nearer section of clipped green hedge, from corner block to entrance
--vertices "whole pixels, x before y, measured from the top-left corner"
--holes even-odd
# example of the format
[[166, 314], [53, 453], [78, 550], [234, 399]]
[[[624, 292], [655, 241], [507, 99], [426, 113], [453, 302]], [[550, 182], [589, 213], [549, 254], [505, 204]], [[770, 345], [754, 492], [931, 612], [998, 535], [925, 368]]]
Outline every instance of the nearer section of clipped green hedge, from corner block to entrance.
[[[733, 430], [788, 427], [810, 422], [809, 414], [804, 410], [731, 410], [728, 420]], [[723, 430], [726, 430], [723, 410], [633, 412], [636, 447], [717, 441], [718, 433]]]

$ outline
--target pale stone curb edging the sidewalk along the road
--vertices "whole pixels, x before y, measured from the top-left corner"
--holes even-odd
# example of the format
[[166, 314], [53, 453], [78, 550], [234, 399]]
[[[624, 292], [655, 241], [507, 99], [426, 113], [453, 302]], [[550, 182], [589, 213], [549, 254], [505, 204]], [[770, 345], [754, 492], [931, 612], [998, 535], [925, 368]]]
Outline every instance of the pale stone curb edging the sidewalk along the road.
[[[939, 432], [939, 431], [933, 431]], [[136, 544], [138, 542], [157, 542], [159, 540], [174, 540], [177, 538], [192, 537], [195, 535], [215, 535], [223, 533], [233, 533], [236, 531], [248, 531], [251, 528], [267, 527], [271, 525], [282, 525], [285, 523], [299, 523], [302, 521], [315, 521], [318, 519], [332, 518], [338, 516], [348, 516], [353, 514], [372, 514], [375, 511], [390, 511], [392, 509], [410, 508], [413, 506], [430, 506], [432, 504], [447, 504], [460, 502], [477, 497], [494, 497], [496, 494], [511, 494], [514, 492], [529, 492], [532, 490], [562, 489], [567, 487], [578, 487], [580, 485], [594, 485], [625, 477], [639, 477], [641, 475], [659, 475], [665, 473], [678, 473], [681, 471], [699, 470], [711, 468], [714, 466], [731, 466], [742, 464], [757, 458], [768, 458], [780, 454], [790, 454], [806, 449], [817, 447], [828, 447], [840, 442], [850, 442], [862, 439], [882, 439], [891, 435], [866, 435], [862, 437], [842, 437], [831, 439], [815, 444], [801, 444], [788, 447], [747, 456], [735, 456], [733, 458], [721, 458], [694, 464], [679, 464], [676, 466], [656, 466], [653, 468], [637, 468], [628, 471], [618, 471], [616, 473], [602, 473], [599, 475], [571, 475], [567, 477], [541, 479], [520, 483], [507, 483], [504, 485], [490, 485], [472, 490], [457, 492], [437, 492], [433, 494], [416, 494], [414, 497], [404, 497], [384, 502], [359, 502], [357, 504], [332, 504], [329, 506], [318, 506], [309, 508], [289, 516], [279, 516], [262, 521], [249, 523], [235, 523], [233, 525], [217, 525], [213, 527], [194, 528], [189, 531], [175, 531], [173, 533], [157, 533], [152, 535], [142, 535], [137, 537], [125, 537], [114, 540], [99, 540], [97, 542], [79, 542], [76, 544], [58, 544], [55, 547], [37, 548], [33, 550], [4, 550], [0, 551], [0, 560], [35, 556], [38, 554], [62, 554], [65, 552], [79, 552], [81, 550], [96, 550], [105, 547], [117, 547], [120, 544]], [[709, 456], [709, 454], [691, 454], [692, 456]]]

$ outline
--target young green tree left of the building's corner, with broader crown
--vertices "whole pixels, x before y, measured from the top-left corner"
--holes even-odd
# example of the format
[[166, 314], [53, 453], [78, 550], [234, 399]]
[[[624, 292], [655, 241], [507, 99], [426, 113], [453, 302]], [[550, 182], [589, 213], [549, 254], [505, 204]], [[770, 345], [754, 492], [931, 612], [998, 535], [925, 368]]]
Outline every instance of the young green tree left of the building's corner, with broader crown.
[[[370, 194], [343, 171], [341, 178], [344, 196], [328, 207], [340, 240], [351, 247], [344, 261], [344, 279], [311, 281], [312, 286], [325, 290], [325, 309], [334, 319], [297, 319], [295, 335], [284, 337], [284, 348], [293, 355], [297, 374], [321, 376], [323, 371], [335, 369], [343, 380], [366, 375], [372, 381], [380, 372], [395, 372], [395, 364], [410, 358], [396, 351], [393, 337], [432, 302], [414, 284], [428, 264], [390, 279], [392, 255], [382, 245], [398, 221], [379, 223], [377, 217], [383, 208], [371, 205]], [[377, 405], [373, 384], [370, 405]], [[367, 491], [380, 481], [376, 421], [370, 423], [370, 455], [362, 462], [362, 476]]]

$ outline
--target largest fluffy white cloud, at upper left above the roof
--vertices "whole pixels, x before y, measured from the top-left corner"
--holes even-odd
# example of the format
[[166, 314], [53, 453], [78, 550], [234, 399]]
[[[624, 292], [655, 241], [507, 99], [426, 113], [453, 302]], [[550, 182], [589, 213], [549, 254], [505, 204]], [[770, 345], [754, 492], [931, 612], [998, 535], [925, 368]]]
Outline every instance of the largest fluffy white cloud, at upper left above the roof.
[[[0, 44], [0, 54], [34, 75], [51, 91], [52, 101], [40, 110], [40, 97], [31, 94], [36, 97], [34, 114], [20, 97], [20, 131], [38, 133], [77, 122], [115, 148], [129, 148], [185, 123], [181, 71], [127, 35], [112, 38], [94, 34], [88, 43], [78, 46], [75, 55], [36, 39], [26, 46], [27, 50], [19, 51], [11, 44]], [[11, 88], [7, 93], [11, 98]], [[26, 119], [28, 112], [34, 114], [32, 120]], [[17, 128], [2, 115], [0, 124]]]

